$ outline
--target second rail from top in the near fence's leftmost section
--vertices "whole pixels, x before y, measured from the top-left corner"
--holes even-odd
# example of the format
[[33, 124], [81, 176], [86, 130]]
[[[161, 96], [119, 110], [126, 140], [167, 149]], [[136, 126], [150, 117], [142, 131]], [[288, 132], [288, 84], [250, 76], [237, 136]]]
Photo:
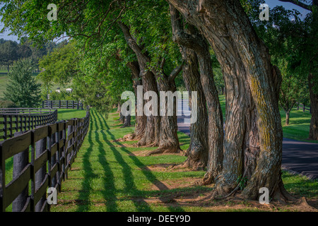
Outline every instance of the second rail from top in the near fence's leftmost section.
[[29, 163], [17, 178], [6, 186], [6, 196], [4, 196], [5, 208], [16, 199], [16, 197], [23, 191], [23, 189], [25, 189], [26, 186], [28, 186], [30, 179], [31, 164]]

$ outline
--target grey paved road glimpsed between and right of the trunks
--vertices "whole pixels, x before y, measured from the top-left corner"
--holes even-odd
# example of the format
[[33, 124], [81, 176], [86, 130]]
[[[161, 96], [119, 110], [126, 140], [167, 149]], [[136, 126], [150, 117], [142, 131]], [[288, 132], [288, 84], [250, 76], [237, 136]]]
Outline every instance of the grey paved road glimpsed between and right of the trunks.
[[[182, 101], [178, 101], [178, 113], [189, 114], [188, 101], [184, 100], [182, 111]], [[186, 119], [186, 123], [184, 123]], [[190, 135], [189, 116], [178, 116], [178, 130]], [[282, 168], [289, 169], [307, 176], [310, 179], [318, 179], [318, 143], [308, 143], [294, 141], [283, 138], [283, 159]]]

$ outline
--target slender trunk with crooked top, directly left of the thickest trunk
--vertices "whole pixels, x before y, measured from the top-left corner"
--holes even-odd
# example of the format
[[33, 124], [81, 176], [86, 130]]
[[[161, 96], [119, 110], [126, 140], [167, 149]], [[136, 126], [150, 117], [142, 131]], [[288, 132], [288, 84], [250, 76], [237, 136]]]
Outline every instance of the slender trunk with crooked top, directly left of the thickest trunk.
[[[223, 165], [223, 116], [218, 100], [218, 91], [213, 80], [213, 69], [211, 55], [206, 40], [196, 31], [193, 25], [188, 25], [184, 30], [181, 18], [174, 6], [170, 5], [170, 16], [172, 20], [173, 40], [177, 42], [182, 52], [187, 48], [192, 49], [199, 61], [199, 81], [201, 83], [208, 107], [208, 167], [204, 177], [204, 184], [214, 181], [221, 172]], [[198, 107], [199, 108], [199, 107]], [[204, 109], [206, 107], [204, 106]]]

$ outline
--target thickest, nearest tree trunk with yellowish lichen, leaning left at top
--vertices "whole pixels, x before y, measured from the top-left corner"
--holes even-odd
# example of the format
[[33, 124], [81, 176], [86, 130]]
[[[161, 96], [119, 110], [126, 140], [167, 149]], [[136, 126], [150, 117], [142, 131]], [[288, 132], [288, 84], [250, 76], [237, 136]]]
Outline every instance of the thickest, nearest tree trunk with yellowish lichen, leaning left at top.
[[287, 198], [281, 182], [281, 76], [240, 1], [169, 2], [206, 37], [225, 78], [224, 160], [216, 191], [229, 194], [249, 172], [243, 198], [257, 199], [261, 187], [271, 197]]

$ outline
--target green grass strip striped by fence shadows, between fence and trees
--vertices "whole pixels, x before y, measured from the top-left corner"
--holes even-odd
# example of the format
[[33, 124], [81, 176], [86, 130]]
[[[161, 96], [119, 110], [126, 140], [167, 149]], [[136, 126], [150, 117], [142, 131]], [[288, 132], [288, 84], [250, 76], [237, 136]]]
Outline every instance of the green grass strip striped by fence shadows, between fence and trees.
[[[118, 114], [107, 119], [91, 110], [90, 129], [69, 179], [62, 184], [57, 206], [52, 211], [286, 211], [290, 206], [254, 206], [240, 201], [203, 200], [213, 186], [196, 186], [202, 171], [169, 169], [186, 160], [182, 155], [143, 156], [154, 148], [134, 148], [129, 142], [112, 142], [134, 131], [120, 128]], [[181, 148], [189, 147], [189, 137], [178, 133]], [[317, 201], [318, 182], [283, 172], [286, 189], [295, 196]]]

